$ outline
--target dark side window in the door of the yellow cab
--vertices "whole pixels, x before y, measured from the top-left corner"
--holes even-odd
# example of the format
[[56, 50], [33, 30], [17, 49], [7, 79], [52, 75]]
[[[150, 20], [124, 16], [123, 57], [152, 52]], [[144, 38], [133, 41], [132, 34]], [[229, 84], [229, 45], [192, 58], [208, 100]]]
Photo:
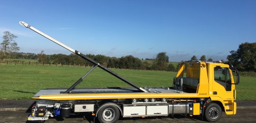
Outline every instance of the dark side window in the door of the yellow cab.
[[229, 68], [214, 67], [214, 80], [222, 85], [227, 91], [231, 91], [231, 78]]

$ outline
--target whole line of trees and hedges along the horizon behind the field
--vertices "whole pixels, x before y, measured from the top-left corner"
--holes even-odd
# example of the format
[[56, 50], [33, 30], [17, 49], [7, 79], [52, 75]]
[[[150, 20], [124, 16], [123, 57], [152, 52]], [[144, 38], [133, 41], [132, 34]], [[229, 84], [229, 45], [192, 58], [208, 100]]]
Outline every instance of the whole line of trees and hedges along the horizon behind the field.
[[[3, 41], [0, 44], [0, 60], [3, 59], [35, 59], [38, 62], [50, 63], [50, 64], [81, 64], [86, 66], [92, 66], [88, 61], [83, 60], [76, 54], [51, 54], [46, 55], [44, 51], [41, 53], [18, 53], [19, 47], [15, 41], [18, 36], [11, 34], [9, 31], [5, 31], [3, 35]], [[136, 69], [136, 70], [167, 70], [177, 71], [179, 64], [169, 62], [169, 56], [166, 52], [158, 53], [155, 59], [146, 58], [140, 60], [132, 55], [123, 56], [121, 58], [109, 57], [105, 55], [86, 54], [87, 57], [99, 62], [108, 68], [116, 69]], [[202, 55], [200, 61], [213, 61], [211, 58], [206, 59], [205, 55]], [[230, 51], [230, 55], [227, 56], [227, 62], [231, 63], [240, 71], [256, 72], [256, 43], [242, 43], [239, 45], [237, 51]], [[195, 55], [192, 56], [191, 61], [198, 61]], [[223, 60], [221, 60], [224, 62]]]

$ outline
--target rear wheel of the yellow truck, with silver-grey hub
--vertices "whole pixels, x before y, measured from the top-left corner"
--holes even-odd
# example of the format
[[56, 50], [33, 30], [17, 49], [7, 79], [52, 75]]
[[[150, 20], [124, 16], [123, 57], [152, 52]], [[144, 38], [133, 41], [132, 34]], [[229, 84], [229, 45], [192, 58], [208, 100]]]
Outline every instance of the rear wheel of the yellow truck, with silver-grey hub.
[[115, 105], [105, 105], [98, 112], [100, 123], [116, 123], [119, 119], [119, 109]]

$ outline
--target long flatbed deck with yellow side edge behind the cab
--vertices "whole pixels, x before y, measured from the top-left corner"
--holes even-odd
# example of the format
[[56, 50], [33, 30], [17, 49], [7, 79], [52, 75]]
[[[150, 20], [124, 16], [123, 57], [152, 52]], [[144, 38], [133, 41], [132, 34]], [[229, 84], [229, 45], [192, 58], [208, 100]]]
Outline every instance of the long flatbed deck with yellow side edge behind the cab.
[[139, 92], [136, 88], [82, 88], [71, 93], [63, 93], [66, 89], [42, 89], [33, 98], [50, 100], [88, 100], [88, 99], [126, 99], [126, 98], [174, 98], [197, 97], [196, 93], [185, 93], [173, 88], [150, 88], [148, 92]]

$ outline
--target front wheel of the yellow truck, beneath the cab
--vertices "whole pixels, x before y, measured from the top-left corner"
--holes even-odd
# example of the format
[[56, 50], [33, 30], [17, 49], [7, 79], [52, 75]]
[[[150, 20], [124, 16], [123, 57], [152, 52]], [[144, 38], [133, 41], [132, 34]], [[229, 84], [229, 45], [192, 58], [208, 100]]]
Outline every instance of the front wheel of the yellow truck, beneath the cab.
[[205, 118], [208, 122], [217, 122], [219, 121], [222, 110], [221, 107], [216, 103], [210, 103], [204, 112]]

